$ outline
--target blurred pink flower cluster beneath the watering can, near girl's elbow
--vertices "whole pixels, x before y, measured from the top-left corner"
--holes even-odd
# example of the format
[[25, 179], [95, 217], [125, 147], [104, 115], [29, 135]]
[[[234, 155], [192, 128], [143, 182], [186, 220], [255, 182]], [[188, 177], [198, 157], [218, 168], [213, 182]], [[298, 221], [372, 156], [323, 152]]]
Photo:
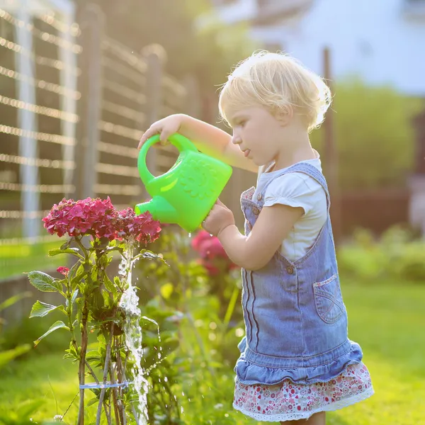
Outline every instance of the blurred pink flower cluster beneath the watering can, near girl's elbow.
[[237, 268], [227, 256], [220, 239], [211, 236], [205, 230], [200, 230], [193, 238], [192, 248], [199, 253], [200, 263], [210, 276], [217, 276], [220, 271], [227, 273], [232, 268]]

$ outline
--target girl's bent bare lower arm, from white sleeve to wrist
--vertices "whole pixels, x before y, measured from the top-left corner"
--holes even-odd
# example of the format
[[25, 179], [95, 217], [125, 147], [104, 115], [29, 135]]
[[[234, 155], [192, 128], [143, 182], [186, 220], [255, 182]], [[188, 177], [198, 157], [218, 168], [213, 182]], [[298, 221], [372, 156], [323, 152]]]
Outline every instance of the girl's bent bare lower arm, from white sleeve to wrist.
[[245, 237], [234, 224], [229, 224], [222, 226], [217, 237], [229, 259], [247, 270], [258, 270], [266, 266], [280, 249], [282, 241], [303, 212], [302, 208], [288, 205], [276, 204], [264, 207], [249, 236]]

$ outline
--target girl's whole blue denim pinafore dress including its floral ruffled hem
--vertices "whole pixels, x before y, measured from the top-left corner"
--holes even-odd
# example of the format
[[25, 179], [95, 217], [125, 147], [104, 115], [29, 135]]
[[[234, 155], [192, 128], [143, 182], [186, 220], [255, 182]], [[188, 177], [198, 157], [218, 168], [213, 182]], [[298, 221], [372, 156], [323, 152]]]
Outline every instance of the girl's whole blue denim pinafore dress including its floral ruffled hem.
[[[317, 239], [297, 261], [277, 251], [263, 268], [242, 269], [246, 334], [238, 345], [233, 405], [263, 421], [307, 419], [373, 394], [361, 347], [348, 339], [326, 180], [307, 162], [282, 169], [274, 179], [295, 171], [315, 179], [327, 196], [327, 220]], [[259, 193], [242, 193], [246, 236], [271, 181]]]

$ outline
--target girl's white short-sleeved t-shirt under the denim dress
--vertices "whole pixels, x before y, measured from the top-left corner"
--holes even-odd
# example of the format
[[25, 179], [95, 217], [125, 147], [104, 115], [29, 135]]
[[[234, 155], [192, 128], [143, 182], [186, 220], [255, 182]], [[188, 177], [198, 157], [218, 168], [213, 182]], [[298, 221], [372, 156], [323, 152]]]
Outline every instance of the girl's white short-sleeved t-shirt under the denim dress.
[[[308, 164], [322, 172], [322, 163], [316, 152], [315, 159], [308, 159]], [[268, 167], [267, 167], [268, 168]], [[283, 240], [280, 252], [286, 259], [296, 261], [307, 254], [327, 220], [327, 199], [322, 185], [312, 177], [300, 171], [276, 177], [282, 170], [263, 172], [266, 167], [259, 169], [259, 179], [253, 199], [263, 191], [264, 186], [273, 180], [266, 189], [264, 206], [275, 204], [301, 207], [304, 214], [290, 230], [288, 237]]]

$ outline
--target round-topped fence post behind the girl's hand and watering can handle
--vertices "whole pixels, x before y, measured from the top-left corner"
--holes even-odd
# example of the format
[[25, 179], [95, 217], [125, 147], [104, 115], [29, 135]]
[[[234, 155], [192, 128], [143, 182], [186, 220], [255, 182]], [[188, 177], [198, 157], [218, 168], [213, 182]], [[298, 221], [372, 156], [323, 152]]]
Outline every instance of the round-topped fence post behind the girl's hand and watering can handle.
[[[161, 45], [153, 44], [144, 47], [141, 54], [147, 61], [145, 116], [146, 126], [149, 127], [162, 116], [162, 75], [166, 52]], [[157, 152], [158, 149], [149, 149], [146, 159], [149, 171], [154, 176], [157, 175]]]

